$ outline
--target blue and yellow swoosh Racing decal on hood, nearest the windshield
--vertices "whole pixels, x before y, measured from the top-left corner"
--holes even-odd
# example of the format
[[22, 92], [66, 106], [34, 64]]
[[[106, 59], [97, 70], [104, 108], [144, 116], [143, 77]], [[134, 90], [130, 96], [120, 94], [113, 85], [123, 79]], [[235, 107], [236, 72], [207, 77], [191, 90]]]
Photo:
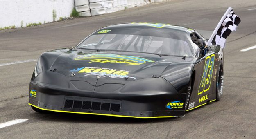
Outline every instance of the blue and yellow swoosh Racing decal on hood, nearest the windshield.
[[87, 54], [79, 56], [75, 60], [90, 60], [89, 63], [120, 63], [125, 65], [141, 65], [146, 62], [154, 62], [149, 59], [139, 58], [136, 56], [123, 56], [118, 54]]

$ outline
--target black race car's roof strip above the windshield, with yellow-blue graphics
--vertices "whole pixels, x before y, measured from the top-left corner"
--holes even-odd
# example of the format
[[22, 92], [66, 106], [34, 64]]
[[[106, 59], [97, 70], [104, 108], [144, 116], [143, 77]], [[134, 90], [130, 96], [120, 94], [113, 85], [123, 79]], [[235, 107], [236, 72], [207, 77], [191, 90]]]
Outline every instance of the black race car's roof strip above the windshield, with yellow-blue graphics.
[[184, 26], [178, 26], [178, 25], [170, 25], [170, 24], [163, 24], [163, 23], [148, 23], [148, 22], [132, 22], [132, 23], [121, 23], [121, 24], [114, 24], [107, 27], [104, 27], [103, 29], [120, 29], [120, 28], [138, 28], [138, 29], [161, 29], [163, 31], [170, 31], [170, 30], [176, 30], [176, 31], [182, 31], [186, 33], [191, 33], [192, 31], [195, 31], [194, 29], [184, 27]]

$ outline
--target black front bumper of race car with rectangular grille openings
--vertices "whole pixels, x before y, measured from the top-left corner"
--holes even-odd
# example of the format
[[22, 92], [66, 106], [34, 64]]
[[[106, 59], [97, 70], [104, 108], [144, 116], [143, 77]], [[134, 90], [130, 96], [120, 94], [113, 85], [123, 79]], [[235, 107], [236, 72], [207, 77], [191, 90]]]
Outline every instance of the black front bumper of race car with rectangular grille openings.
[[[138, 84], [136, 81], [131, 83], [131, 86]], [[72, 88], [72, 84], [67, 85], [69, 88], [65, 88], [35, 80], [30, 82], [29, 105], [46, 111], [116, 117], [165, 118], [184, 116], [186, 93], [177, 93], [174, 87], [161, 77], [148, 78], [140, 81], [140, 83], [145, 83], [148, 86], [140, 85], [143, 87], [129, 89], [129, 83], [127, 83], [124, 87], [128, 89], [121, 87], [113, 92], [103, 89], [83, 92], [81, 89]], [[156, 87], [152, 87], [153, 85]], [[125, 91], [122, 92], [122, 90]], [[137, 90], [138, 92], [136, 92]], [[180, 101], [184, 105], [167, 108], [168, 103], [176, 101]]]

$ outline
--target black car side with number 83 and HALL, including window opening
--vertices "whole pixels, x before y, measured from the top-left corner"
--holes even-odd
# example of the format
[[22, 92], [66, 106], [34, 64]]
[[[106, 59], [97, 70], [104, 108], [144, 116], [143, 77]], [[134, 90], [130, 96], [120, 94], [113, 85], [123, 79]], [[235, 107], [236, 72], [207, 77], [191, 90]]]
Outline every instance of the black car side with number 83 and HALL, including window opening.
[[[198, 47], [203, 48], [205, 46], [206, 41], [196, 32], [191, 37]], [[198, 51], [200, 51], [200, 48]], [[197, 108], [215, 99], [215, 93], [213, 93], [215, 89], [213, 85], [214, 64], [215, 52], [211, 51], [211, 48], [208, 48], [202, 56], [198, 53], [194, 65], [195, 78], [192, 81], [192, 93], [187, 110]]]

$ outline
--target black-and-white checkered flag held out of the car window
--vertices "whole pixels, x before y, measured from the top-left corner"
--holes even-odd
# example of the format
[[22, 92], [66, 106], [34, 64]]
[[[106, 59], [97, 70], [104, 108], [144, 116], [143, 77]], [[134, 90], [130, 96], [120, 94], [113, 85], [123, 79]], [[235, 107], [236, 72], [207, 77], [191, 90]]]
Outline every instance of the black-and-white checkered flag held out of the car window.
[[229, 36], [231, 32], [236, 31], [236, 27], [240, 22], [240, 18], [233, 12], [232, 8], [229, 7], [206, 45], [220, 45], [223, 49], [226, 45], [227, 36]]

